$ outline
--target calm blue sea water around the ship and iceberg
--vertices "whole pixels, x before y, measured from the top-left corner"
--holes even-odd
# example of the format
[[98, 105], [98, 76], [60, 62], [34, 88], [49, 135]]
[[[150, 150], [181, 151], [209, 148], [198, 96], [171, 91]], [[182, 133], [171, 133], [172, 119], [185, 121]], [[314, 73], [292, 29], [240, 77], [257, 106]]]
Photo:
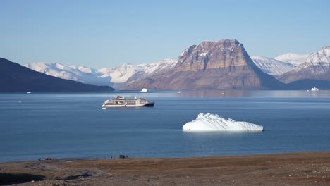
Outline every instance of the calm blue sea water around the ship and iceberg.
[[[100, 109], [117, 94], [153, 108]], [[184, 132], [198, 113], [264, 132]], [[330, 151], [330, 92], [204, 91], [0, 94], [0, 162]]]

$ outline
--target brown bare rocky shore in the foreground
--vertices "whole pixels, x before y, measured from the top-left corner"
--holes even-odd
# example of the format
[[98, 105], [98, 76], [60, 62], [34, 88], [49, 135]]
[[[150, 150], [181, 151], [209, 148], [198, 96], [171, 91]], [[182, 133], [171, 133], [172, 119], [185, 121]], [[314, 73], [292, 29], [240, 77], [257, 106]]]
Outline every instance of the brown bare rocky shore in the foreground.
[[0, 163], [0, 185], [330, 185], [330, 152]]

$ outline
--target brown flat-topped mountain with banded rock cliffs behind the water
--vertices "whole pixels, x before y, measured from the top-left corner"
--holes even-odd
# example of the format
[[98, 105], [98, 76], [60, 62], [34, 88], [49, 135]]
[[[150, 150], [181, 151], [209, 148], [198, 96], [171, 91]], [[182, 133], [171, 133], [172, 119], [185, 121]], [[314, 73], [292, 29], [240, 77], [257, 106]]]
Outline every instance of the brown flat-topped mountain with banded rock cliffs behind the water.
[[262, 72], [237, 40], [202, 42], [185, 49], [176, 67], [142, 79], [124, 89], [283, 89], [283, 83]]

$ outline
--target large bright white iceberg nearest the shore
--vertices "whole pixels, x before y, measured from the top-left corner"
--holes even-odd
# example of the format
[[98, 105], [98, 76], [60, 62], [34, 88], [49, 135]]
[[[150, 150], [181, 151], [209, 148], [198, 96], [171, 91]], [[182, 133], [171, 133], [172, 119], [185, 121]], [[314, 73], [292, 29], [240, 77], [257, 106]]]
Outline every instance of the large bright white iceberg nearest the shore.
[[183, 130], [201, 130], [201, 131], [263, 131], [264, 127], [248, 123], [245, 121], [236, 121], [232, 119], [221, 118], [221, 116], [212, 113], [200, 113], [193, 121], [185, 123]]

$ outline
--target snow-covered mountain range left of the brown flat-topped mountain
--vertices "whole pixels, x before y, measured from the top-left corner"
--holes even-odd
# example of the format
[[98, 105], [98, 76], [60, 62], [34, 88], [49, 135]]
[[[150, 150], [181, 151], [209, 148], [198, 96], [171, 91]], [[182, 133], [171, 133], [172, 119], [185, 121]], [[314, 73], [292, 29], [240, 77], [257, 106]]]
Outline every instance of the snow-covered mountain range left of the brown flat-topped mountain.
[[151, 75], [159, 70], [171, 69], [175, 65], [176, 60], [164, 59], [151, 64], [123, 64], [114, 68], [101, 69], [85, 66], [64, 66], [61, 63], [30, 63], [26, 64], [25, 67], [66, 80], [75, 80], [94, 85], [111, 85], [112, 87], [120, 88], [128, 79]]

